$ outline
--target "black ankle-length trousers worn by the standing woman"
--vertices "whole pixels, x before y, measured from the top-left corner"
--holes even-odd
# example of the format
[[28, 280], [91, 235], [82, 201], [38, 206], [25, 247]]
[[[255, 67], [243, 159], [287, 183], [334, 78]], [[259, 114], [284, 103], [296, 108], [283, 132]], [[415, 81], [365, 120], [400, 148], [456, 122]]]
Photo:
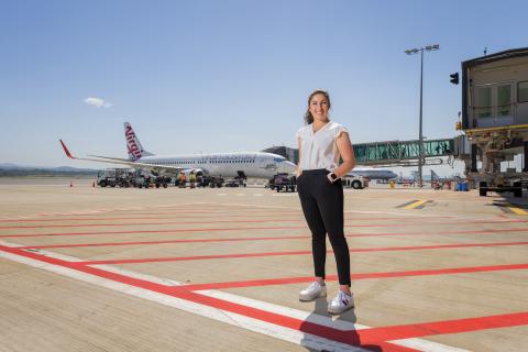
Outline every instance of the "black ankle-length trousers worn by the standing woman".
[[329, 173], [324, 168], [302, 170], [297, 178], [297, 189], [311, 231], [316, 276], [324, 278], [328, 233], [338, 264], [339, 284], [350, 286], [350, 253], [343, 231], [343, 186], [340, 180], [330, 183]]

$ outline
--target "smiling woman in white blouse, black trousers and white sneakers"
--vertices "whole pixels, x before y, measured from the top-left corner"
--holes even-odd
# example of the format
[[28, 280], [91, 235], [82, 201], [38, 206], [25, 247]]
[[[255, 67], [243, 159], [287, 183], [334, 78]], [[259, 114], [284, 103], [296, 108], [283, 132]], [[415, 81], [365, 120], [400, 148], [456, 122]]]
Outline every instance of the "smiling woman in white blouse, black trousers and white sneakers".
[[[330, 121], [330, 97], [316, 90], [308, 98], [306, 125], [297, 132], [299, 164], [297, 188], [302, 212], [311, 231], [316, 279], [299, 293], [299, 299], [310, 301], [327, 296], [324, 262], [326, 234], [330, 239], [338, 264], [339, 293], [328, 305], [330, 314], [341, 314], [354, 307], [350, 292], [350, 253], [343, 232], [343, 187], [341, 177], [355, 166], [354, 151], [345, 128]], [[343, 161], [339, 164], [340, 156]]]

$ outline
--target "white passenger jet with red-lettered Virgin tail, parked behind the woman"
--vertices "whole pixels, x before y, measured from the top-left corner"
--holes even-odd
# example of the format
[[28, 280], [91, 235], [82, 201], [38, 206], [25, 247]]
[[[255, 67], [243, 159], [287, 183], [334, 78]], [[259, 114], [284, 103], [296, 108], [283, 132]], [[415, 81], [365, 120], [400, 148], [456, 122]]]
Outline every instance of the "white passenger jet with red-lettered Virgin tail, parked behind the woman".
[[73, 160], [100, 162], [130, 167], [148, 169], [155, 176], [176, 176], [179, 173], [189, 176], [193, 170], [199, 176], [221, 176], [240, 178], [266, 178], [276, 174], [294, 174], [295, 164], [284, 156], [263, 152], [210, 153], [188, 155], [155, 155], [143, 148], [132, 125], [124, 122], [124, 138], [129, 158], [119, 158], [102, 155], [90, 157], [74, 156], [66, 144], [61, 144], [66, 156]]

